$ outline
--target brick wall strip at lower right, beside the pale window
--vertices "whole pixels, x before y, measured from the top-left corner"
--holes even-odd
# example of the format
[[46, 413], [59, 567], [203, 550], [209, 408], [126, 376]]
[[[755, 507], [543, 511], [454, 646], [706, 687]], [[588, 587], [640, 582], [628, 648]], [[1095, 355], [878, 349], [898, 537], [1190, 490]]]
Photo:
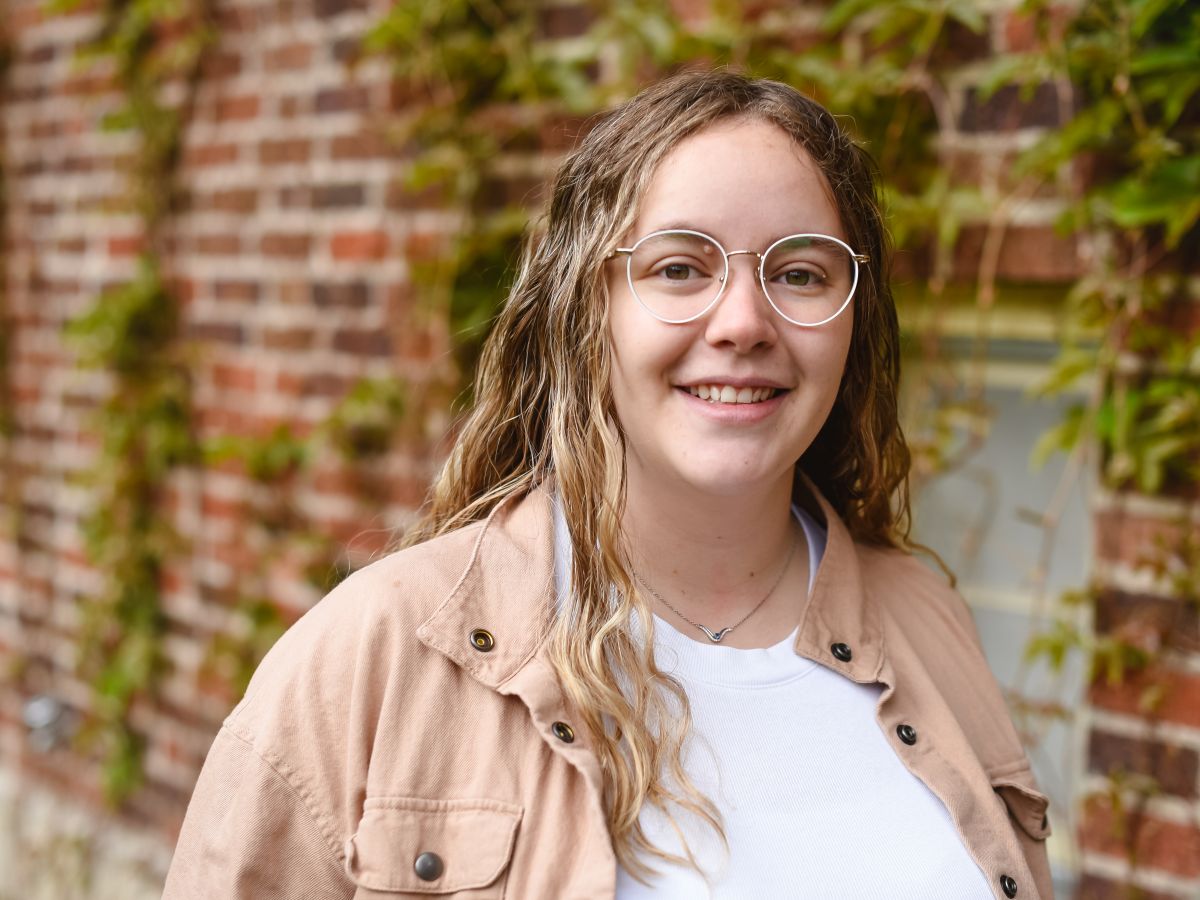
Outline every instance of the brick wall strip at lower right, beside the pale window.
[[[1195, 329], [1193, 334], [1200, 332]], [[1147, 900], [1200, 893], [1200, 626], [1195, 595], [1200, 566], [1200, 503], [1182, 496], [1102, 494], [1096, 503], [1094, 629], [1156, 654], [1154, 664], [1088, 691], [1085, 798], [1080, 810], [1081, 890], [1098, 900], [1139, 888]], [[1192, 542], [1193, 566], [1184, 559]], [[1166, 550], [1172, 564], [1156, 571], [1147, 557]], [[1190, 600], [1187, 594], [1190, 593]], [[1115, 815], [1105, 776], [1136, 786], [1148, 778], [1150, 797]], [[1132, 853], [1130, 853], [1132, 850]], [[1130, 857], [1133, 857], [1130, 859]]]

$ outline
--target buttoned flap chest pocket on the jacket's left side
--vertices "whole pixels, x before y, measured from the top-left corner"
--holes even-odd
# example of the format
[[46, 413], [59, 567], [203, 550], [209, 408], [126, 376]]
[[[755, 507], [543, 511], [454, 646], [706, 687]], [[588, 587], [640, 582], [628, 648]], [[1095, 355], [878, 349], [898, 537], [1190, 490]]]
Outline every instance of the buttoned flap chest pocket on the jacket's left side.
[[520, 823], [500, 800], [368, 797], [346, 842], [354, 896], [500, 900]]

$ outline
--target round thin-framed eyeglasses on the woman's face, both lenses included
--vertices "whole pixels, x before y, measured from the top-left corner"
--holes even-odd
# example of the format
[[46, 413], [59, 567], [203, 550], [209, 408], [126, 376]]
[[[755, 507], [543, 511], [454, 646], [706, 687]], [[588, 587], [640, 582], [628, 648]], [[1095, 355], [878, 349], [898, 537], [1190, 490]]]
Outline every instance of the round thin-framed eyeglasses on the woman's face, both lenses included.
[[762, 253], [727, 251], [702, 232], [654, 232], [632, 247], [606, 258], [625, 257], [625, 277], [637, 302], [660, 322], [682, 325], [707, 313], [728, 284], [730, 257], [758, 257], [758, 283], [772, 307], [787, 322], [816, 328], [838, 317], [858, 287], [858, 266], [870, 257], [827, 234], [792, 234]]

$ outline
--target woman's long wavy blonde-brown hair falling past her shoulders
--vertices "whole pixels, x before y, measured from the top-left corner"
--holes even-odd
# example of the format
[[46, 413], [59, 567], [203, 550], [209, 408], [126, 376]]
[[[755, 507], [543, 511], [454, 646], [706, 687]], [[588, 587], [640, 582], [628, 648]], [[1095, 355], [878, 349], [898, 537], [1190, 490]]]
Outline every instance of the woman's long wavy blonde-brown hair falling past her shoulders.
[[[851, 307], [853, 337], [838, 400], [798, 466], [856, 540], [908, 548], [910, 456], [896, 414], [899, 328], [889, 248], [868, 154], [824, 108], [792, 88], [728, 71], [690, 71], [604, 115], [564, 161], [545, 228], [524, 246], [511, 293], [484, 348], [474, 407], [436, 479], [410, 545], [488, 515], [550, 478], [574, 550], [572, 590], [550, 634], [564, 690], [604, 773], [618, 860], [646, 878], [647, 857], [690, 864], [648, 840], [646, 804], [676, 823], [686, 811], [724, 839], [720, 815], [680, 762], [691, 727], [683, 686], [658, 670], [653, 617], [622, 538], [623, 437], [610, 392], [604, 260], [626, 236], [662, 158], [730, 119], [782, 128], [833, 191], [846, 239], [871, 263]], [[647, 637], [631, 632], [637, 617]]]

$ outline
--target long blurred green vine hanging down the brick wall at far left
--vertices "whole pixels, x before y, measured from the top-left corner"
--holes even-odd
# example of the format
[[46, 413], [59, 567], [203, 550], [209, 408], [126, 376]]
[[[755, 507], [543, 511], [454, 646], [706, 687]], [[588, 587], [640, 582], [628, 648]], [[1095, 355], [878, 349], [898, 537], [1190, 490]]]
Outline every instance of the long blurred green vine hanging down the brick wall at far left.
[[[78, 5], [66, 0], [55, 8]], [[181, 544], [164, 510], [164, 488], [174, 469], [198, 460], [163, 240], [178, 198], [182, 131], [212, 40], [210, 12], [206, 0], [112, 0], [82, 50], [85, 60], [112, 71], [119, 92], [103, 126], [137, 139], [130, 205], [143, 246], [134, 276], [67, 325], [80, 364], [110, 379], [96, 416], [100, 454], [86, 475], [95, 506], [83, 526], [88, 556], [107, 584], [83, 605], [79, 667], [92, 684], [84, 737], [104, 761], [113, 802], [142, 781], [144, 740], [131, 710], [152, 696], [167, 665], [162, 575]]]

